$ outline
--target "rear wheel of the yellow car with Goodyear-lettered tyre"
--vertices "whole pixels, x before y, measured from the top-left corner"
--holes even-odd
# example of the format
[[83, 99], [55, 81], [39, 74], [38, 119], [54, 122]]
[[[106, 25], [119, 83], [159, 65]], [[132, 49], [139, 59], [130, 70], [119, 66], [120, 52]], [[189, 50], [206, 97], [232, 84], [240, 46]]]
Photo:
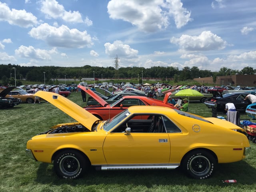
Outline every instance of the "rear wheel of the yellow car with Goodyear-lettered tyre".
[[209, 152], [194, 150], [186, 154], [181, 166], [188, 176], [196, 179], [206, 179], [212, 176], [216, 164], [216, 159]]

